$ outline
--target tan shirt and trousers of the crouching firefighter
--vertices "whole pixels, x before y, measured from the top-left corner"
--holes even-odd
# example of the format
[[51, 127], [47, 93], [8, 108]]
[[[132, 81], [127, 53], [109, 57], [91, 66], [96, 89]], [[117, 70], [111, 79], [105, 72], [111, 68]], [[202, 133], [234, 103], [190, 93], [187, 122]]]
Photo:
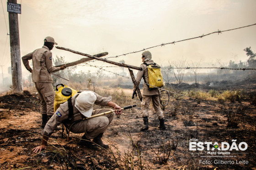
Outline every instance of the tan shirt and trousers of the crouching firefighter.
[[[48, 123], [45, 125], [45, 128], [41, 132], [42, 135], [46, 135], [49, 137], [59, 124], [64, 123], [65, 127], [69, 128], [69, 126], [73, 122], [84, 118], [84, 116], [75, 108], [75, 100], [78, 95], [79, 93], [75, 94], [72, 97], [72, 105], [73, 105], [73, 111], [74, 111], [72, 119], [71, 120], [68, 119], [69, 117], [68, 102], [60, 104], [59, 108], [56, 110], [53, 116], [48, 120]], [[97, 105], [107, 106], [107, 103], [111, 101], [111, 97], [104, 98], [96, 93], [95, 95], [96, 95], [95, 104]], [[112, 109], [110, 108], [95, 109], [93, 110], [92, 115], [104, 113], [108, 111], [112, 111]], [[87, 139], [93, 139], [98, 134], [106, 131], [108, 125], [112, 122], [113, 118], [114, 118], [114, 113], [110, 113], [104, 116], [82, 120], [78, 123], [73, 124], [70, 131], [76, 134], [85, 133], [85, 137]]]

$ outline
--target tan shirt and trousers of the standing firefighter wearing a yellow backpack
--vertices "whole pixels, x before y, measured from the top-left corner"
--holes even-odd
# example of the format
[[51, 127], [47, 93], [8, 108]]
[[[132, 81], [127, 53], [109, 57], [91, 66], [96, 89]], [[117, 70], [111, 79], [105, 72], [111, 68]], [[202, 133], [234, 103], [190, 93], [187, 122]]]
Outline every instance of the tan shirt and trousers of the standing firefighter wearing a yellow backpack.
[[[150, 56], [150, 59], [151, 59], [151, 56]], [[154, 64], [153, 60], [148, 60], [146, 61], [146, 63]], [[159, 66], [158, 64], [156, 65]], [[141, 64], [140, 67], [142, 67], [143, 70], [139, 71], [137, 74], [137, 77], [136, 77], [137, 84], [139, 85], [143, 76], [145, 77], [146, 83], [149, 83], [149, 73], [148, 73], [147, 66], [145, 64]], [[151, 103], [151, 100], [152, 100], [153, 107], [155, 109], [157, 117], [159, 119], [164, 118], [163, 111], [160, 108], [160, 98], [159, 98], [158, 89], [156, 88], [149, 91], [149, 87], [147, 86], [146, 83], [144, 82], [143, 84], [143, 92], [142, 92], [142, 102], [141, 102], [142, 117], [149, 117], [149, 104]], [[133, 91], [135, 91], [135, 87], [133, 88]]]

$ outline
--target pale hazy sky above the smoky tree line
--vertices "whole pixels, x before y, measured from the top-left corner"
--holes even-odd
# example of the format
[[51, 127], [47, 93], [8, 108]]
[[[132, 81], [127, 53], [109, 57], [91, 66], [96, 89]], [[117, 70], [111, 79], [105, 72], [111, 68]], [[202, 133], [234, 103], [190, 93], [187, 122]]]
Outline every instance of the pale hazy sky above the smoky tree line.
[[[11, 66], [7, 1], [0, 8], [0, 63], [4, 77]], [[21, 57], [52, 36], [58, 46], [107, 57], [256, 23], [256, 0], [17, 0], [21, 4]], [[4, 9], [4, 11], [3, 11]], [[5, 22], [6, 21], [6, 22]], [[7, 29], [6, 25], [7, 24]], [[256, 26], [149, 49], [154, 62], [186, 58], [201, 67], [246, 61], [244, 48], [256, 52]], [[53, 57], [73, 62], [82, 56], [54, 48]], [[141, 53], [111, 59], [139, 66]], [[97, 66], [109, 66], [93, 62]], [[80, 66], [85, 72], [94, 70]], [[106, 68], [108, 69], [108, 68]], [[109, 68], [110, 70], [112, 68]], [[1, 71], [0, 71], [1, 72]], [[29, 72], [22, 64], [23, 76]], [[0, 78], [0, 82], [2, 78]]]

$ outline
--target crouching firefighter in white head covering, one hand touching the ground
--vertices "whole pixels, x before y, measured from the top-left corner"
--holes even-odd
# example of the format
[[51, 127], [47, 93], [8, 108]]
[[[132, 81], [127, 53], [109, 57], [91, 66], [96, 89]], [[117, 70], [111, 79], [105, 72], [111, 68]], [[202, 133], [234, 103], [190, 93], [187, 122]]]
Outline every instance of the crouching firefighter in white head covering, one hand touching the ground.
[[[85, 133], [79, 141], [80, 145], [84, 145], [87, 148], [94, 148], [95, 145], [99, 145], [107, 149], [108, 145], [103, 144], [101, 137], [103, 133], [107, 130], [109, 124], [112, 122], [112, 119], [114, 118], [114, 113], [112, 112], [103, 116], [98, 116], [90, 119], [85, 118], [89, 118], [95, 114], [112, 111], [112, 109], [110, 108], [93, 110], [93, 104], [114, 108], [117, 115], [121, 114], [121, 107], [118, 106], [116, 103], [113, 103], [111, 99], [111, 96], [104, 98], [91, 91], [82, 91], [81, 93], [75, 94], [71, 98], [71, 100], [60, 104], [59, 108], [48, 120], [43, 131], [41, 132], [41, 134], [43, 135], [41, 145], [33, 148], [33, 152], [41, 152], [41, 150], [47, 146], [48, 138], [53, 133], [54, 129], [56, 129], [57, 126], [61, 123], [63, 123], [65, 127], [73, 133]], [[72, 113], [72, 115], [70, 115], [70, 113]], [[76, 121], [77, 123], [74, 123]]]

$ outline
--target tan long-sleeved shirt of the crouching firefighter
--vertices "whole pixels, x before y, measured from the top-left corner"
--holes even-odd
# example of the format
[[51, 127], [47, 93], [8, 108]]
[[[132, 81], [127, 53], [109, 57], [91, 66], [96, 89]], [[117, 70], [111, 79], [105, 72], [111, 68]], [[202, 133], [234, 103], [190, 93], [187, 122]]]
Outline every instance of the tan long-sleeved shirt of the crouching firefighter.
[[[100, 106], [107, 106], [107, 103], [111, 101], [111, 96], [104, 98], [96, 93], [96, 101], [94, 102], [97, 105]], [[71, 120], [69, 120], [69, 107], [68, 102], [64, 102], [59, 105], [59, 108], [56, 110], [56, 112], [53, 114], [53, 116], [48, 120], [47, 124], [45, 125], [44, 129], [42, 130], [41, 134], [44, 136], [50, 136], [54, 129], [61, 124], [64, 123], [66, 128], [69, 128], [69, 126], [74, 123], [77, 120], [80, 120], [84, 118], [84, 116], [75, 108], [75, 100], [79, 93], [75, 94], [72, 97], [72, 105], [73, 105], [73, 117]]]

